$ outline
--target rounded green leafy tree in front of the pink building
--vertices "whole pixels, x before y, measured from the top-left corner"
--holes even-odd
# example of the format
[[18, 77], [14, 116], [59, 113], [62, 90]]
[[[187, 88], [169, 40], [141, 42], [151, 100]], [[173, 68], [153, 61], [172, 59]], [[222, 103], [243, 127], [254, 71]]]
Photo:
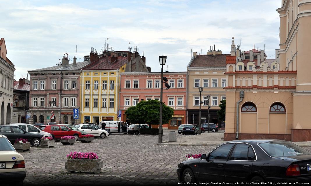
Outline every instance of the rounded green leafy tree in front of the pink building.
[[[149, 100], [141, 101], [136, 106], [129, 107], [125, 111], [126, 117], [132, 124], [153, 124], [159, 125], [160, 120], [160, 101]], [[172, 119], [174, 110], [171, 107], [162, 105], [162, 124], [169, 123]], [[149, 125], [151, 127], [151, 125]]]

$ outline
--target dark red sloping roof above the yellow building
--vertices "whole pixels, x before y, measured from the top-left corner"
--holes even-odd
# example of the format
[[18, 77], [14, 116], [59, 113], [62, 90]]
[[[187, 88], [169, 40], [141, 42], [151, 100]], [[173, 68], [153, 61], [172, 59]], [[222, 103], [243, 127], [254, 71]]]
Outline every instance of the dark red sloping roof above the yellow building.
[[116, 61], [111, 62], [111, 56], [108, 56], [108, 61], [106, 57], [100, 57], [99, 60], [84, 66], [83, 70], [114, 70], [119, 69], [121, 66], [128, 62], [128, 57], [118, 56]]

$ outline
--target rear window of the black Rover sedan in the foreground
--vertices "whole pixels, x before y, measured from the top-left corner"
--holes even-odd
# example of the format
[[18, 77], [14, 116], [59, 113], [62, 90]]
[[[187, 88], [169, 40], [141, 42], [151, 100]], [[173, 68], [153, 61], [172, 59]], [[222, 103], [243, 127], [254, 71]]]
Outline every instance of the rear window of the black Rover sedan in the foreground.
[[310, 154], [310, 152], [291, 142], [268, 142], [259, 143], [258, 145], [271, 157], [289, 157]]

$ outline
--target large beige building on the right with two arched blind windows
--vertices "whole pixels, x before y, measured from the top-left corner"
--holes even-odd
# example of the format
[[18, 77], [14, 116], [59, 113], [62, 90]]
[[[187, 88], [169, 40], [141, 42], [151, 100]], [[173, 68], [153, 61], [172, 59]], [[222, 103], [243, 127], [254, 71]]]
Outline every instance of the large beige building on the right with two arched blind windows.
[[[310, 141], [311, 79], [309, 78], [309, 34], [311, 4], [282, 1], [279, 62], [253, 62], [239, 68], [239, 47], [231, 45], [226, 59], [226, 132], [224, 140], [275, 138]], [[299, 26], [298, 26], [299, 25]], [[254, 61], [254, 60], [253, 60]], [[270, 63], [271, 62], [271, 63]], [[251, 63], [250, 63], [251, 66]]]

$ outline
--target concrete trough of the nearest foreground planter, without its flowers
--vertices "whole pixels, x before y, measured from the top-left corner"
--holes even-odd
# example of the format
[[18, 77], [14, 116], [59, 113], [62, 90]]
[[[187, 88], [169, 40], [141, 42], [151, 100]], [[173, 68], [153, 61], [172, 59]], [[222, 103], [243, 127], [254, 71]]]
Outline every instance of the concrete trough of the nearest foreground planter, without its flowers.
[[75, 171], [89, 171], [95, 174], [101, 172], [103, 168], [103, 161], [97, 160], [67, 160], [65, 162], [65, 169], [67, 173], [74, 173]]

